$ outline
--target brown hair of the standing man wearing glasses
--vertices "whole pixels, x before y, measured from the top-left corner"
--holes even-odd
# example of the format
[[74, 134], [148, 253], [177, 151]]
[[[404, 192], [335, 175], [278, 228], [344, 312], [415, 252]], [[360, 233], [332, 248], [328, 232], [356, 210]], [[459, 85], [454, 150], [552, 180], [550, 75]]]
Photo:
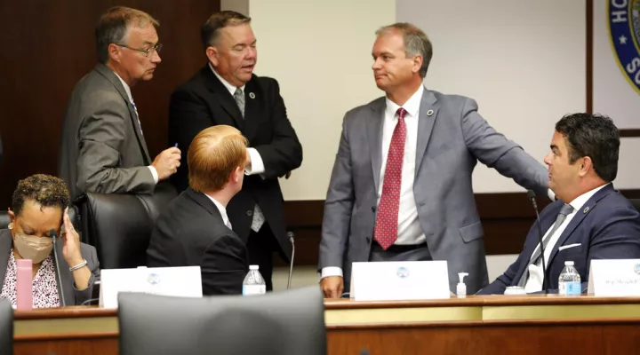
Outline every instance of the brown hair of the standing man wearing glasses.
[[116, 6], [105, 12], [98, 21], [95, 29], [96, 49], [98, 61], [105, 64], [109, 59], [108, 45], [111, 43], [123, 43], [129, 28], [146, 28], [149, 24], [155, 28], [160, 23], [147, 12], [132, 9], [131, 7]]

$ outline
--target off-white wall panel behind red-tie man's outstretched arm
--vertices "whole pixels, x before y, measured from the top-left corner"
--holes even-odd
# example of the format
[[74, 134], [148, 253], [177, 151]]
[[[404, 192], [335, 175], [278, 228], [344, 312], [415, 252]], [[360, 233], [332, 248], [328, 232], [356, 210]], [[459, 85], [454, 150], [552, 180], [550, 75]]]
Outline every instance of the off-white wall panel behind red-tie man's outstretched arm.
[[[555, 123], [586, 109], [584, 0], [397, 0], [434, 46], [429, 89], [476, 99], [492, 126], [542, 162]], [[523, 188], [480, 164], [476, 193]]]

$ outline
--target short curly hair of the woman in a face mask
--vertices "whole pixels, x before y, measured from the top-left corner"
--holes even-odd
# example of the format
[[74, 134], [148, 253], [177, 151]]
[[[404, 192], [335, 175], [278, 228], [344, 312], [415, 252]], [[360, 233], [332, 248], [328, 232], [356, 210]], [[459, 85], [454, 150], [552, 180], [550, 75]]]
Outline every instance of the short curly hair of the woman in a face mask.
[[64, 210], [69, 205], [67, 185], [60, 177], [36, 174], [18, 181], [13, 191], [12, 210], [20, 215], [25, 201], [36, 201], [42, 207], [60, 207]]

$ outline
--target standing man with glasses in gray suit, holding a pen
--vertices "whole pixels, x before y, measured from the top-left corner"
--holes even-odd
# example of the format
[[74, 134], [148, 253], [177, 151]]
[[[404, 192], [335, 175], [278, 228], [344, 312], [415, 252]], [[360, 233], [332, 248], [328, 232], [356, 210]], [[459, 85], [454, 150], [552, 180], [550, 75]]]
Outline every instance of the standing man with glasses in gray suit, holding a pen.
[[58, 173], [72, 199], [88, 192], [153, 193], [180, 166], [177, 147], [151, 162], [131, 94], [161, 61], [156, 26], [148, 13], [121, 6], [100, 18], [100, 63], [76, 84], [60, 139]]

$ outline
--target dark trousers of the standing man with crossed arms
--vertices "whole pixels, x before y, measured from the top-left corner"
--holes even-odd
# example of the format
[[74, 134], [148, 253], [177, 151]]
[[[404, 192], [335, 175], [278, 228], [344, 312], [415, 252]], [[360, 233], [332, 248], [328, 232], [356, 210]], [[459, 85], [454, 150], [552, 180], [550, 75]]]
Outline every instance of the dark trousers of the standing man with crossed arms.
[[253, 232], [252, 230], [249, 233], [247, 250], [249, 251], [249, 264], [260, 266], [259, 271], [267, 284], [267, 291], [272, 291], [273, 253], [277, 251], [278, 254], [282, 254], [282, 251], [267, 222], [260, 227], [260, 231]]

